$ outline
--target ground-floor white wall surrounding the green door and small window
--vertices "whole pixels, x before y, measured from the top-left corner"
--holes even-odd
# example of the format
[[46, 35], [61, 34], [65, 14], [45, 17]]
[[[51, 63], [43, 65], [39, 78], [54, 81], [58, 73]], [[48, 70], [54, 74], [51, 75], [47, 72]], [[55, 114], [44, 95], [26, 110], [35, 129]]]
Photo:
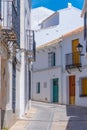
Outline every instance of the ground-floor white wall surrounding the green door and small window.
[[[52, 102], [52, 84], [51, 80], [54, 78], [58, 78], [58, 86], [59, 86], [59, 102], [61, 100], [61, 80], [60, 80], [61, 70], [60, 68], [48, 69], [39, 72], [33, 72], [33, 81], [32, 81], [32, 99], [39, 101]], [[41, 83], [41, 92], [40, 94], [36, 93], [36, 83]], [[44, 88], [44, 83], [47, 83], [47, 87]], [[47, 100], [45, 100], [47, 98]]]

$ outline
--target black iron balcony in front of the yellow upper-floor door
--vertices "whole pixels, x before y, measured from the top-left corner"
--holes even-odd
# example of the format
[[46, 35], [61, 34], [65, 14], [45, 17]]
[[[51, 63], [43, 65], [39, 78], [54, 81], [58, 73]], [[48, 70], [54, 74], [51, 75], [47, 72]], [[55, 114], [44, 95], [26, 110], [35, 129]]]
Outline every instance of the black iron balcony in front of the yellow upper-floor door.
[[65, 68], [68, 73], [70, 73], [70, 70], [73, 68], [78, 68], [80, 71], [80, 68], [82, 67], [81, 64], [81, 57], [78, 52], [75, 53], [69, 53], [66, 54], [66, 65]]

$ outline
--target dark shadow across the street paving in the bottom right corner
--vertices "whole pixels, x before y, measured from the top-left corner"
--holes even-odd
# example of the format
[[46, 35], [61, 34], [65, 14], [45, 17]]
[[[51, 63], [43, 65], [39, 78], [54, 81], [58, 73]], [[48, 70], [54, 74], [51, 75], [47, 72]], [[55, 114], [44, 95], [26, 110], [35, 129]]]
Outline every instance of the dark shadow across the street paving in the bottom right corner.
[[66, 106], [69, 121], [66, 130], [87, 130], [87, 108]]

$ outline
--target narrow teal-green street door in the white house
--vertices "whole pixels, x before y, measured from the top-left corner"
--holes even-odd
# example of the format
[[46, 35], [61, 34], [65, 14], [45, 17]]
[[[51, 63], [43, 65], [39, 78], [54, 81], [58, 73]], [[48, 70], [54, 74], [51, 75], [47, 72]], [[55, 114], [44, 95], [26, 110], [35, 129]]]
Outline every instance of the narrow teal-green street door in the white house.
[[53, 102], [58, 102], [58, 79], [53, 79]]

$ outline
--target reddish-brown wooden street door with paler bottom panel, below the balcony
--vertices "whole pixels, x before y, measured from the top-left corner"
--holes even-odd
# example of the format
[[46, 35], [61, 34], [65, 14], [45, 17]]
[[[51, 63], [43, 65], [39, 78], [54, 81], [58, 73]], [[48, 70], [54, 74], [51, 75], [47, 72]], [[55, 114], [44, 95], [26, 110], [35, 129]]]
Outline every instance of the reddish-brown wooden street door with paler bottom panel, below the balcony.
[[69, 76], [69, 104], [75, 104], [75, 76]]

